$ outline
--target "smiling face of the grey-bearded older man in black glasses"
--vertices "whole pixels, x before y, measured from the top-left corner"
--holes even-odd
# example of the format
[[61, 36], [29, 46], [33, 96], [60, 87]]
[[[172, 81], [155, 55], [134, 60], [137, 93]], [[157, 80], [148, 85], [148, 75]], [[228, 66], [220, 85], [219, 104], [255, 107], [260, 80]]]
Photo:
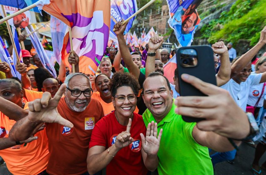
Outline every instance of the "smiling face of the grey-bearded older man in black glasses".
[[[68, 88], [78, 91], [91, 90], [90, 80], [81, 75], [76, 75], [70, 79]], [[84, 96], [84, 93], [81, 93], [79, 97], [74, 97], [71, 95], [71, 92], [67, 90], [64, 95], [68, 107], [75, 112], [84, 111], [90, 103], [90, 97]]]

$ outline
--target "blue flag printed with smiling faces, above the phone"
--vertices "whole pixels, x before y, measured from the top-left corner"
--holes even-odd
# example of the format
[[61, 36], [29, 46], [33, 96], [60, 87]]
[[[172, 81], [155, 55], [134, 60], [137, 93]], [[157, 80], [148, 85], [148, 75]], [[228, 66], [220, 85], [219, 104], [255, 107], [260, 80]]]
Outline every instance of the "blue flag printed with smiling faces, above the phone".
[[174, 29], [181, 46], [190, 46], [200, 23], [196, 8], [202, 0], [166, 0], [169, 7], [169, 26]]

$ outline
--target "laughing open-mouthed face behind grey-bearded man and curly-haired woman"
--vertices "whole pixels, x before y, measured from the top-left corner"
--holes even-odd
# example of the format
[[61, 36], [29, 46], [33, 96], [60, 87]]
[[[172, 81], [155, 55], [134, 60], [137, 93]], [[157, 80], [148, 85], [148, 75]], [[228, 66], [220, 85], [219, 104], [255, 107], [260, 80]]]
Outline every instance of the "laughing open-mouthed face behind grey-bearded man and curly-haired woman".
[[98, 75], [96, 79], [96, 88], [100, 93], [101, 98], [110, 99], [112, 97], [111, 92], [109, 90], [110, 79], [105, 74]]

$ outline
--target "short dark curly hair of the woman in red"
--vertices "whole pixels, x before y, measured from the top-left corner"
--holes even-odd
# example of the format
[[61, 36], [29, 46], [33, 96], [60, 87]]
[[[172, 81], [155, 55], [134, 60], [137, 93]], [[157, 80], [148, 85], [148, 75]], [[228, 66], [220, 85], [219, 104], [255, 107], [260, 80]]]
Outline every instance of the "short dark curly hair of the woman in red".
[[130, 73], [117, 72], [110, 81], [110, 92], [112, 93], [112, 97], [115, 96], [117, 89], [122, 86], [130, 87], [136, 94], [138, 94], [141, 89], [138, 80], [133, 75]]

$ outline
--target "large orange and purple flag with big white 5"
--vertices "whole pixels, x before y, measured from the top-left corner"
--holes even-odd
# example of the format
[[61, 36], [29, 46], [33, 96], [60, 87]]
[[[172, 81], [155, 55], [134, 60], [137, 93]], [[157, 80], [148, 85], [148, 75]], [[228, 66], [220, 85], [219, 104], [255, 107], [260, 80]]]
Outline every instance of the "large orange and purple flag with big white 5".
[[[79, 55], [79, 71], [95, 74], [108, 43], [110, 1], [39, 0], [35, 4], [71, 27], [73, 50]], [[61, 50], [65, 65], [69, 65], [69, 51], [69, 33], [66, 33]]]

